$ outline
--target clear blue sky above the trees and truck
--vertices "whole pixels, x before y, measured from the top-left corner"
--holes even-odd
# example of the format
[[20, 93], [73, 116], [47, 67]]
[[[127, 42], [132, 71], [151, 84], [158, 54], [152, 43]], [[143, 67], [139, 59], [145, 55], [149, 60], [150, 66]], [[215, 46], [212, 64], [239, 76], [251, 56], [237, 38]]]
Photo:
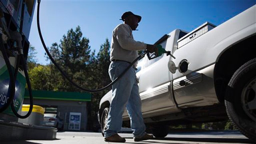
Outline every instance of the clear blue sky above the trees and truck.
[[[62, 36], [78, 25], [96, 53], [112, 30], [122, 23], [126, 11], [142, 16], [137, 41], [153, 44], [174, 29], [188, 32], [208, 21], [216, 26], [256, 4], [256, 0], [41, 0], [40, 27], [46, 46], [60, 44]], [[48, 64], [39, 38], [34, 11], [29, 41], [36, 48], [36, 59]]]

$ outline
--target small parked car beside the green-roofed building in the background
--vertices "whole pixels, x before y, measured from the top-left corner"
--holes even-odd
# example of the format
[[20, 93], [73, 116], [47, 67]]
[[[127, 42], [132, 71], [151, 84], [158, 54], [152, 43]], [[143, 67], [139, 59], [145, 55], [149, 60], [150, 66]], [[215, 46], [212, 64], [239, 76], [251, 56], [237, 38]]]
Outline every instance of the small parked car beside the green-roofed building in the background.
[[57, 114], [44, 114], [43, 126], [52, 126], [58, 130], [63, 130], [63, 120]]

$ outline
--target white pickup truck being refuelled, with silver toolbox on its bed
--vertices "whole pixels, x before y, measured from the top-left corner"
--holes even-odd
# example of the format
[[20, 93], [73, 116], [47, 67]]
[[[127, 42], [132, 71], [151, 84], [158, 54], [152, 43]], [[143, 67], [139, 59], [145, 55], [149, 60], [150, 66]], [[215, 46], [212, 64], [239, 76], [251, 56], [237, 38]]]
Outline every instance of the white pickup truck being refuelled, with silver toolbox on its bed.
[[[230, 118], [256, 141], [256, 5], [219, 26], [173, 30], [156, 44], [176, 59], [144, 56], [137, 66], [144, 122], [155, 137], [165, 137], [168, 126]], [[102, 130], [111, 97], [100, 101]], [[130, 125], [127, 112], [123, 125]]]

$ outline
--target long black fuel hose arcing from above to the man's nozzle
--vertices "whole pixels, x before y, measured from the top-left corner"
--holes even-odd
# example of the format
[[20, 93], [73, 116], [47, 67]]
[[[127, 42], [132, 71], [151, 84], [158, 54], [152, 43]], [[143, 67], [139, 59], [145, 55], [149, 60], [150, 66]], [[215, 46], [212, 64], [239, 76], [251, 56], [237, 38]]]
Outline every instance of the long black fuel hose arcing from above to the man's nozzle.
[[124, 72], [122, 72], [115, 80], [113, 80], [110, 84], [108, 84], [107, 86], [103, 87], [103, 88], [99, 88], [96, 90], [89, 90], [86, 88], [82, 88], [81, 86], [78, 86], [76, 83], [74, 83], [68, 76], [67, 74], [60, 68], [60, 66], [58, 66], [58, 64], [55, 62], [55, 60], [52, 58], [50, 52], [48, 51], [45, 43], [44, 43], [44, 39], [42, 37], [42, 33], [41, 33], [41, 29], [40, 29], [40, 21], [39, 21], [39, 11], [40, 11], [40, 0], [38, 0], [38, 5], [37, 5], [37, 28], [38, 28], [38, 33], [41, 39], [41, 42], [43, 44], [44, 50], [46, 51], [46, 54], [49, 56], [50, 60], [52, 61], [52, 63], [57, 67], [57, 69], [60, 71], [60, 73], [74, 86], [76, 86], [77, 88], [79, 88], [80, 90], [84, 90], [85, 92], [100, 92], [102, 90], [105, 90], [106, 88], [112, 86], [114, 83], [116, 83], [122, 76], [124, 76], [124, 74], [129, 70], [129, 68], [131, 68], [140, 58], [142, 58], [148, 51], [145, 50], [144, 52], [142, 52], [125, 70]]

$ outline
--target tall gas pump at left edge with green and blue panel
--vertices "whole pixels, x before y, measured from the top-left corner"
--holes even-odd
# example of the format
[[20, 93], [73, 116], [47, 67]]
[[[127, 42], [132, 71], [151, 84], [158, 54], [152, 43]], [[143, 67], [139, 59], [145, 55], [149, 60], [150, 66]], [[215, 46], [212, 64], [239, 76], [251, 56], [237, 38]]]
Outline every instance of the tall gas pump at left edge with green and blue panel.
[[[35, 5], [36, 0], [0, 1], [0, 118], [2, 120], [18, 121], [18, 118], [26, 118], [33, 108], [30, 96], [30, 112], [20, 116], [26, 83], [30, 85], [26, 59]], [[28, 86], [28, 89], [31, 90], [31, 87]]]

